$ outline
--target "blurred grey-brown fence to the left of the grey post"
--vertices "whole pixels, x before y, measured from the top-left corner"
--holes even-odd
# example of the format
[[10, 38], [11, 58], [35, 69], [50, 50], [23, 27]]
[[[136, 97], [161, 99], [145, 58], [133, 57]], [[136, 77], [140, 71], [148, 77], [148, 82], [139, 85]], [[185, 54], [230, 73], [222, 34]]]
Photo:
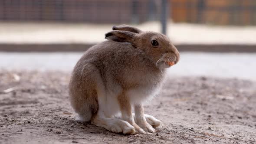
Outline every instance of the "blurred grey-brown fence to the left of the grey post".
[[142, 23], [155, 20], [158, 1], [0, 0], [0, 20]]

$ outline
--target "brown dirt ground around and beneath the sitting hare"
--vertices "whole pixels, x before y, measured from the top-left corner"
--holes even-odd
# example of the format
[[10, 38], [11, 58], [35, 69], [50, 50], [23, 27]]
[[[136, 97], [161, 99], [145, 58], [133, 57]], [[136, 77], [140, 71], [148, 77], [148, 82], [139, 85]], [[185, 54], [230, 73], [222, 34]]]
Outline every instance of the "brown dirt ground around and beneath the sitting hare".
[[157, 132], [123, 135], [75, 121], [69, 75], [0, 70], [0, 144], [256, 143], [256, 82], [169, 78], [145, 106], [145, 113], [162, 121]]

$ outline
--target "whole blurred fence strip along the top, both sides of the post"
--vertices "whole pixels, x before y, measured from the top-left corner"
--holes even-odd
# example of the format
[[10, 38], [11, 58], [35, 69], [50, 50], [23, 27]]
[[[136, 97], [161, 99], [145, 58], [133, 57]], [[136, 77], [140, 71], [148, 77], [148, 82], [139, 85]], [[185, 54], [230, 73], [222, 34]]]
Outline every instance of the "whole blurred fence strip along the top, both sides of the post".
[[[162, 0], [0, 0], [0, 20], [143, 23]], [[256, 25], [256, 0], [167, 0], [174, 22]]]

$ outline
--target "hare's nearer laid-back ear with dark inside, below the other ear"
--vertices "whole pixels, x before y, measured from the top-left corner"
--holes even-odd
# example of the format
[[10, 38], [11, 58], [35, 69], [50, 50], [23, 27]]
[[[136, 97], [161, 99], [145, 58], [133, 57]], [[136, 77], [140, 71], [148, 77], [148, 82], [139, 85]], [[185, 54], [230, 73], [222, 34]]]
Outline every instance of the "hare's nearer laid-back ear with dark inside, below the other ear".
[[116, 42], [133, 43], [135, 40], [135, 36], [136, 33], [121, 30], [113, 30], [105, 34], [105, 39], [113, 40]]

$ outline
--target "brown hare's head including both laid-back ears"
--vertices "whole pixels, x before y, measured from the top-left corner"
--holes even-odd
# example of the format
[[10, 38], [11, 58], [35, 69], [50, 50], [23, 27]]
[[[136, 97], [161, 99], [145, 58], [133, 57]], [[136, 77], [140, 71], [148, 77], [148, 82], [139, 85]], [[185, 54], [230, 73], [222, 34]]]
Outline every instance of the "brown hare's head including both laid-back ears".
[[180, 59], [180, 53], [167, 36], [156, 32], [143, 32], [128, 25], [113, 26], [105, 38], [121, 43], [131, 43], [144, 51], [159, 68], [169, 68]]

